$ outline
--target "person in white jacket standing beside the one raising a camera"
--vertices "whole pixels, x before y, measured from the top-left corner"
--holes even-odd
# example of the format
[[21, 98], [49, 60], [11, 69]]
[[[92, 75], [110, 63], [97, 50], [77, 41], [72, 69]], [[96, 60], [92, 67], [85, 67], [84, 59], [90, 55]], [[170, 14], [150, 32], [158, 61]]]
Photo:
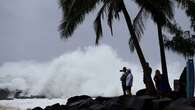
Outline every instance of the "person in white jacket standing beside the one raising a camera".
[[126, 78], [126, 90], [128, 95], [132, 95], [131, 87], [133, 85], [133, 75], [131, 73], [131, 69], [127, 69], [127, 78]]

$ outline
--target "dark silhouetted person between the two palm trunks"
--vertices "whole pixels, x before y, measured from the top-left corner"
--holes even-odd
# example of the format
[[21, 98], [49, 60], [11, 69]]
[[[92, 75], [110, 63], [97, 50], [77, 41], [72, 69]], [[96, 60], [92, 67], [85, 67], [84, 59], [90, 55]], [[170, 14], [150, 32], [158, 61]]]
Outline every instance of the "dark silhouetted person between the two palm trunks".
[[155, 71], [155, 75], [154, 75], [154, 82], [155, 82], [155, 86], [156, 86], [156, 89], [158, 91], [160, 91], [160, 84], [161, 84], [161, 74], [160, 74], [160, 71], [159, 70], [156, 70]]

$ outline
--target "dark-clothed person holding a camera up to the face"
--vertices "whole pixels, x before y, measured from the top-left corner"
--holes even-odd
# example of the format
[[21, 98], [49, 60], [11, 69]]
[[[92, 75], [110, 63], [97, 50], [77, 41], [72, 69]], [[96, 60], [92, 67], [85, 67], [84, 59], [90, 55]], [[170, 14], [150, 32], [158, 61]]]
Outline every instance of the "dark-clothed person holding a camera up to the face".
[[120, 80], [121, 80], [121, 84], [122, 84], [123, 95], [126, 95], [127, 68], [126, 67], [123, 67], [123, 69], [120, 70], [120, 72], [123, 72]]

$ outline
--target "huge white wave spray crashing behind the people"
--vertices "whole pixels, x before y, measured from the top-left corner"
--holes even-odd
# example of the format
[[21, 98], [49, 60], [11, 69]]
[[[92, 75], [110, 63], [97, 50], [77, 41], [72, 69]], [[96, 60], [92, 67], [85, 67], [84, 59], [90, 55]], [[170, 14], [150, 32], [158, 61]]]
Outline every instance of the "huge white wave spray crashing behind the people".
[[[68, 98], [74, 95], [121, 95], [119, 70], [130, 67], [134, 76], [133, 93], [143, 88], [143, 73], [139, 64], [121, 59], [107, 45], [92, 46], [65, 53], [48, 62], [7, 62], [0, 67], [0, 88], [23, 90], [26, 95]], [[156, 65], [153, 68], [159, 68]], [[168, 65], [170, 83], [178, 78], [182, 66]]]

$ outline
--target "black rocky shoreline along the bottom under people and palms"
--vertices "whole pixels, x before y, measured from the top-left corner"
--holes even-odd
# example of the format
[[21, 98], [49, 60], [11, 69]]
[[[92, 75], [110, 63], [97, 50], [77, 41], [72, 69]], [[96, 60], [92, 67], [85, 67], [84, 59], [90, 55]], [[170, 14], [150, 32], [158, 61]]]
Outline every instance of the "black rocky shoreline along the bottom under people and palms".
[[144, 96], [96, 97], [74, 96], [65, 105], [59, 103], [32, 110], [195, 110], [195, 98], [170, 99]]

